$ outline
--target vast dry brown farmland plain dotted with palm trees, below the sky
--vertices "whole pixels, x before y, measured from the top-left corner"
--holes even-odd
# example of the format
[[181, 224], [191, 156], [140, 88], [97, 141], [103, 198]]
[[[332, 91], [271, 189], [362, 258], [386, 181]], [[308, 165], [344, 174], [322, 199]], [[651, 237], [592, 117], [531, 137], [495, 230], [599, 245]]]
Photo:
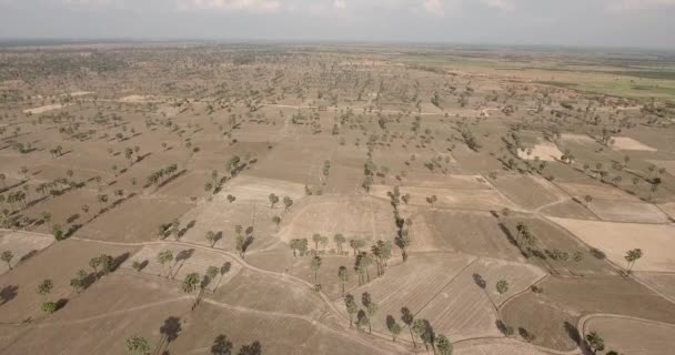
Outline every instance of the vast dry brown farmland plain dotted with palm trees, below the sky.
[[611, 88], [652, 57], [93, 48], [0, 47], [0, 354], [421, 353], [402, 307], [454, 354], [574, 351], [583, 316], [626, 353], [672, 336], [675, 111]]

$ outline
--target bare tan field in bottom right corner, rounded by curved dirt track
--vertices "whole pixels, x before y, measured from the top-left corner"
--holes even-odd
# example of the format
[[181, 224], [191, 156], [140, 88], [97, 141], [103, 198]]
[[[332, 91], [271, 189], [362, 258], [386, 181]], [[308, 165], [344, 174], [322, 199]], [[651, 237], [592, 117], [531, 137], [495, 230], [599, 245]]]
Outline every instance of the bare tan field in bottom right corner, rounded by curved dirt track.
[[673, 353], [675, 325], [623, 317], [593, 317], [585, 332], [602, 334], [608, 349], [619, 354], [666, 355]]

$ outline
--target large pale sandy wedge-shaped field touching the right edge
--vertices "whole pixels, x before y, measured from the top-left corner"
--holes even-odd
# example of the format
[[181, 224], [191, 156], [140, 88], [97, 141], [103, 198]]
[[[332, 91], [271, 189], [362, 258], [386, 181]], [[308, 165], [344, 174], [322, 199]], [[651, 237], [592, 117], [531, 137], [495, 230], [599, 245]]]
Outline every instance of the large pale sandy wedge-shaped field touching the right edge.
[[642, 248], [644, 255], [635, 271], [675, 272], [675, 225], [613, 223], [548, 217], [622, 267], [626, 266], [626, 251]]

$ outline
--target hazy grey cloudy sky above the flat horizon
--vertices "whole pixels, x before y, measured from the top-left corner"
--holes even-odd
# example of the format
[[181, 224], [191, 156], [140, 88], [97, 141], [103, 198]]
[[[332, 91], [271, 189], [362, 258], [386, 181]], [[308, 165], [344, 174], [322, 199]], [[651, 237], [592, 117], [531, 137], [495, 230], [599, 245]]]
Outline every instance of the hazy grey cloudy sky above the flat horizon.
[[0, 38], [675, 49], [675, 0], [0, 0]]

